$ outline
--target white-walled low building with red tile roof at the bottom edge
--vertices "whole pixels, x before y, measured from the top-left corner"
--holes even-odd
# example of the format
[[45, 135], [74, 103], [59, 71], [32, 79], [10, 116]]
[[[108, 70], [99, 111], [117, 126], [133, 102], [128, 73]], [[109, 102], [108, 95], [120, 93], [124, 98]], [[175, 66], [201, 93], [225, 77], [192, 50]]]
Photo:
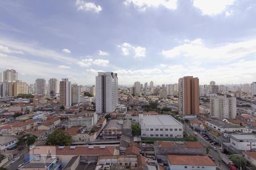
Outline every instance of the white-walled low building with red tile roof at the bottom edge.
[[205, 169], [216, 170], [217, 165], [209, 156], [167, 155], [170, 170]]

